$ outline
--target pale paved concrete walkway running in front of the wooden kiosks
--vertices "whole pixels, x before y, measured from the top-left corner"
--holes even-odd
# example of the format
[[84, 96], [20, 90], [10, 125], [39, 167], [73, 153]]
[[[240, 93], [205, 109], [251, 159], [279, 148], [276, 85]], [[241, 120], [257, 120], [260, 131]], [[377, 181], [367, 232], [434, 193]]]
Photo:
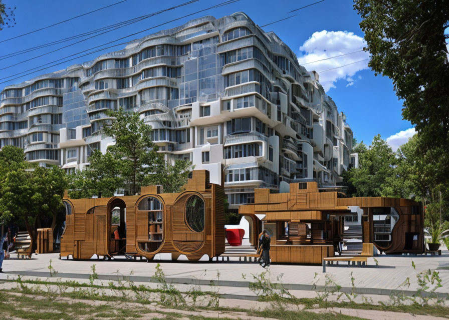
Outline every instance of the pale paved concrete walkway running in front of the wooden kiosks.
[[[257, 263], [239, 262], [238, 258], [231, 258], [231, 261], [188, 262], [178, 260], [172, 262], [168, 260], [169, 254], [161, 255], [167, 260], [153, 260], [147, 263], [146, 260], [59, 260], [58, 253], [33, 254], [32, 259], [5, 260], [4, 273], [0, 273], [0, 279], [15, 274], [47, 277], [50, 275], [48, 266], [52, 260], [54, 269], [59, 272], [58, 277], [87, 279], [92, 273], [91, 266], [95, 263], [99, 279], [117, 280], [119, 277], [125, 277], [135, 282], [145, 283], [152, 281], [151, 276], [155, 272], [155, 266], [160, 263], [167, 282], [208, 285], [210, 280], [214, 280], [216, 285], [223, 289], [224, 287], [228, 288], [226, 291], [230, 294], [245, 293], [244, 295], [246, 295], [249, 292], [249, 282], [254, 281], [254, 276], [265, 271]], [[413, 291], [418, 289], [416, 282], [418, 272], [449, 265], [447, 251], [443, 251], [441, 256], [379, 255], [375, 259], [377, 259], [378, 265], [373, 258], [368, 258], [368, 265], [365, 267], [331, 265], [327, 266], [326, 273], [321, 272], [321, 265], [272, 264], [269, 269], [273, 282], [283, 283], [286, 288], [295, 292], [315, 290], [314, 283], [319, 288], [325, 284], [326, 277], [332, 277], [336, 284], [341, 285], [341, 291], [350, 292], [352, 290], [352, 272], [354, 286], [359, 294], [389, 295], [394, 289], [406, 290], [406, 294], [413, 294]], [[412, 260], [416, 265], [416, 271], [412, 267]], [[442, 280], [442, 287], [436, 291], [449, 293], [449, 270], [439, 270], [439, 276]], [[407, 278], [410, 280], [410, 285], [401, 287]]]

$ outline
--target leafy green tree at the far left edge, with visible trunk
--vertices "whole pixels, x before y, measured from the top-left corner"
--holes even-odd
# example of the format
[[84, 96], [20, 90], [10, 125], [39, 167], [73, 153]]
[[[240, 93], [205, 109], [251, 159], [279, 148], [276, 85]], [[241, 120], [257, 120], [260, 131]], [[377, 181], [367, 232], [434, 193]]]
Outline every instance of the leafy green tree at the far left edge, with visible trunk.
[[55, 220], [63, 208], [66, 174], [57, 166], [32, 166], [15, 146], [0, 150], [0, 165], [0, 222], [25, 224], [35, 246], [41, 219]]

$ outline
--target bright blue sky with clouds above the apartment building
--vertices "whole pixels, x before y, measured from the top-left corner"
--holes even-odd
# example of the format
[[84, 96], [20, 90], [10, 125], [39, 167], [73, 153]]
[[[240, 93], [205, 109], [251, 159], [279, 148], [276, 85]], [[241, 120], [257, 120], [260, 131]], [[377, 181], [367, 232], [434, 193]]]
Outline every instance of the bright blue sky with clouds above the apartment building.
[[[0, 31], [0, 41], [118, 1], [119, 0], [4, 0], [7, 6], [13, 4], [13, 2], [17, 6], [15, 11], [17, 24], [13, 28], [4, 28]], [[127, 0], [123, 3], [66, 23], [0, 43], [0, 55], [5, 55], [162, 10], [184, 1], [187, 0]], [[226, 6], [206, 10], [189, 17], [169, 22], [114, 43], [132, 40], [161, 29], [174, 27], [199, 16], [213, 15], [215, 17], [221, 17], [236, 11], [243, 11], [259, 25], [264, 25], [296, 13], [297, 15], [290, 19], [268, 25], [263, 29], [265, 31], [276, 32], [278, 36], [298, 55], [299, 61], [302, 63], [356, 51], [363, 47], [363, 32], [359, 27], [360, 18], [353, 10], [352, 0], [324, 0], [323, 2], [293, 13], [287, 13], [288, 11], [316, 1], [317, 0], [240, 0]], [[112, 32], [94, 37], [62, 50], [55, 51], [55, 49], [64, 44], [75, 41], [56, 44], [11, 58], [2, 59], [0, 60], [0, 68], [5, 68], [25, 59], [51, 52], [42, 57], [0, 70], [0, 78], [2, 78], [0, 82], [8, 80], [3, 78], [14, 73], [60, 59], [67, 55], [115, 40], [221, 2], [222, 1], [217, 0], [199, 0], [184, 7], [152, 16], [148, 19], [116, 29]], [[7, 81], [1, 83], [0, 88], [3, 88], [8, 84], [30, 79], [42, 73], [63, 69], [74, 63], [88, 61], [99, 54], [121, 48], [123, 48], [123, 46], [106, 49], [37, 73]], [[354, 136], [358, 141], [363, 140], [369, 144], [372, 137], [375, 134], [380, 133], [384, 139], [390, 137], [388, 141], [395, 147], [397, 144], [405, 142], [407, 137], [412, 134], [412, 129], [410, 129], [411, 124], [402, 119], [402, 103], [394, 94], [391, 80], [387, 77], [382, 77], [381, 75], [375, 76], [374, 72], [368, 69], [367, 60], [356, 62], [364, 58], [367, 58], [367, 53], [356, 52], [320, 62], [308, 63], [305, 66], [308, 70], [323, 71], [351, 63], [345, 67], [322, 72], [320, 74], [320, 82], [327, 90], [327, 93], [334, 99], [339, 110], [346, 114], [347, 121], [351, 125]]]

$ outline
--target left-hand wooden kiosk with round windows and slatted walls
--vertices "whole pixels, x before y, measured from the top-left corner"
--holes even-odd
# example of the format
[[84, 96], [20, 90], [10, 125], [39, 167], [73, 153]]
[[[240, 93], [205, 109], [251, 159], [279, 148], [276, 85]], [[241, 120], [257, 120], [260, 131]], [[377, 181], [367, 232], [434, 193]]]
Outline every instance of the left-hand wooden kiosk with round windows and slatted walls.
[[[71, 199], [66, 193], [61, 256], [212, 258], [224, 252], [223, 199], [223, 187], [209, 183], [207, 170], [194, 170], [180, 193], [162, 193], [156, 185], [142, 187], [139, 195], [109, 198]], [[112, 223], [113, 211], [119, 223]]]

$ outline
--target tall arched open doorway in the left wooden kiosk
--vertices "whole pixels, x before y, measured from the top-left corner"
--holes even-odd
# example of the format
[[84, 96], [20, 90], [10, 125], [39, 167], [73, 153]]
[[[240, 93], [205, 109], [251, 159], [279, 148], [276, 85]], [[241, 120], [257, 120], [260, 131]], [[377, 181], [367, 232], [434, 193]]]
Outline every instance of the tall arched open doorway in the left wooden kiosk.
[[[89, 212], [87, 212], [89, 213]], [[109, 246], [111, 254], [124, 253], [126, 250], [126, 204], [119, 198], [108, 205]]]

